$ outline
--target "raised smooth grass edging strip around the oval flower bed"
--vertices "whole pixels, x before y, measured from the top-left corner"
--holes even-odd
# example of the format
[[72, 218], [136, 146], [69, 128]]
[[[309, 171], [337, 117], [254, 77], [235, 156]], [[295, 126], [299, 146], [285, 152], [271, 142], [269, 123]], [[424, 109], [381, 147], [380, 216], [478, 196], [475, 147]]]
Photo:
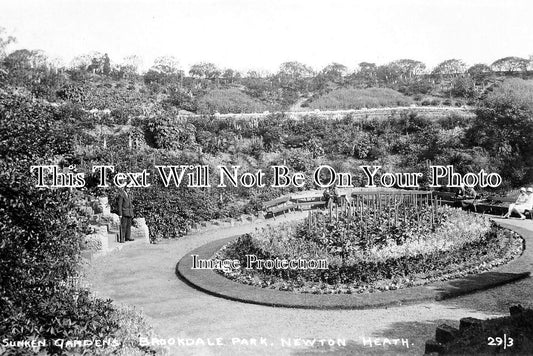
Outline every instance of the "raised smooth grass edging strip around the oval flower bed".
[[[533, 241], [533, 232], [511, 224], [497, 223], [518, 233], [524, 239], [524, 245], [527, 240]], [[428, 300], [439, 301], [497, 287], [529, 277], [528, 269], [533, 265], [533, 249], [526, 249], [524, 246], [518, 258], [488, 272], [424, 286], [364, 294], [291, 293], [234, 282], [213, 270], [191, 269], [191, 255], [198, 255], [202, 259], [212, 258], [222, 246], [237, 237], [213, 241], [189, 252], [176, 265], [177, 276], [200, 291], [244, 303], [304, 309], [373, 309]]]

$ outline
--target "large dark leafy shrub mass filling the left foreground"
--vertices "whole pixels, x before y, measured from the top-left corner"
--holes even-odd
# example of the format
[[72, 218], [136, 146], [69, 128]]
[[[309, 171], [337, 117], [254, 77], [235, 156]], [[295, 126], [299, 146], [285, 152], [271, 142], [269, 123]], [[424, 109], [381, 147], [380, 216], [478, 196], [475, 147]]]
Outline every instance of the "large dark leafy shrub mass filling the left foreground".
[[0, 335], [46, 340], [52, 354], [62, 352], [56, 339], [127, 339], [110, 300], [66, 284], [79, 273], [86, 232], [86, 218], [76, 209], [79, 192], [39, 189], [29, 178], [31, 165], [57, 163], [72, 153], [69, 125], [50, 107], [16, 95], [0, 97], [0, 117]]

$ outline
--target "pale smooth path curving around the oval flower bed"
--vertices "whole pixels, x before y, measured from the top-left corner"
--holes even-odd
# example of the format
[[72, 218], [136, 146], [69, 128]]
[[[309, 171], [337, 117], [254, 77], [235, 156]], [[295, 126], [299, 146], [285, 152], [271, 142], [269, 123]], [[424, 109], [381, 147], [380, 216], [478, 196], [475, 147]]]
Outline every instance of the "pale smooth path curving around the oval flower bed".
[[[304, 215], [289, 214], [268, 223]], [[498, 222], [518, 230], [527, 246], [533, 243], [531, 220]], [[457, 326], [459, 319], [467, 316], [486, 319], [508, 315], [509, 307], [519, 303], [533, 307], [531, 277], [446, 301], [373, 310], [306, 310], [245, 304], [205, 294], [176, 278], [177, 261], [191, 250], [265, 224], [228, 227], [158, 245], [126, 245], [121, 251], [96, 259], [88, 279], [98, 296], [142, 308], [159, 337], [176, 340], [177, 344], [170, 348], [171, 355], [322, 355], [326, 351], [339, 355], [419, 355], [440, 323]], [[533, 271], [533, 261], [524, 266]], [[385, 338], [393, 344], [383, 346]], [[409, 347], [401, 341], [394, 345], [393, 339], [404, 339], [404, 343], [408, 339]], [[328, 346], [329, 341], [335, 345]], [[182, 346], [180, 342], [197, 345]]]

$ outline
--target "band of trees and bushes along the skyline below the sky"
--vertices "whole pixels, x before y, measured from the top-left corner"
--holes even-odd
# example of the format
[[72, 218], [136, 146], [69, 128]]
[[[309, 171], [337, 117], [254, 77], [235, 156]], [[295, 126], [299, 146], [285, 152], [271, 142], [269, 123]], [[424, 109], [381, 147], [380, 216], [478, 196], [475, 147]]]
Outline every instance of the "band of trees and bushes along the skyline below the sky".
[[[262, 107], [270, 111], [286, 110], [295, 104], [308, 106], [338, 89], [373, 87], [390, 88], [409, 96], [462, 98], [474, 103], [499, 78], [528, 78], [533, 69], [531, 58], [513, 56], [470, 67], [453, 58], [435, 68], [428, 68], [416, 59], [350, 66], [331, 63], [320, 70], [291, 61], [282, 63], [274, 73], [254, 70], [242, 73], [210, 62], [196, 63], [186, 69], [173, 56], [158, 57], [150, 66], [143, 66], [142, 58], [137, 55], [115, 60], [100, 52], [79, 55], [63, 64], [39, 50], [9, 52], [7, 49], [13, 41], [5, 30], [0, 32], [0, 79], [4, 83], [24, 86], [37, 96], [56, 99], [56, 93], [66, 85], [90, 87], [91, 83], [116, 85], [127, 81], [130, 84], [126, 87], [162, 95], [166, 105], [191, 112], [213, 113], [219, 106], [220, 111], [228, 107], [236, 110], [244, 107], [245, 111]], [[199, 104], [209, 93], [211, 103], [205, 105], [204, 100], [203, 105]]]

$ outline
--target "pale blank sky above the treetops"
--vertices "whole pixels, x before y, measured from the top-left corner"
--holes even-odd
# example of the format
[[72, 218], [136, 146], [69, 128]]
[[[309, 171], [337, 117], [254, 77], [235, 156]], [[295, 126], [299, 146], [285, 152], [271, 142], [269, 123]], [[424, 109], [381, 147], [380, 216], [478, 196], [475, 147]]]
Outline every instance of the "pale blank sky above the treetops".
[[0, 26], [65, 63], [90, 51], [149, 66], [173, 55], [182, 67], [209, 61], [276, 71], [297, 60], [421, 60], [429, 67], [533, 54], [531, 0], [2, 0]]

